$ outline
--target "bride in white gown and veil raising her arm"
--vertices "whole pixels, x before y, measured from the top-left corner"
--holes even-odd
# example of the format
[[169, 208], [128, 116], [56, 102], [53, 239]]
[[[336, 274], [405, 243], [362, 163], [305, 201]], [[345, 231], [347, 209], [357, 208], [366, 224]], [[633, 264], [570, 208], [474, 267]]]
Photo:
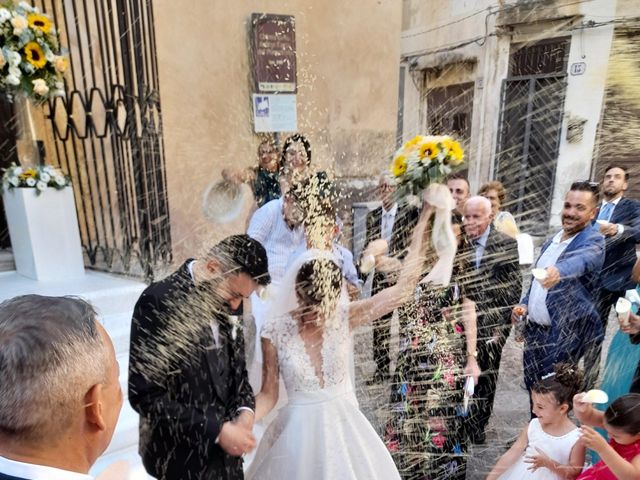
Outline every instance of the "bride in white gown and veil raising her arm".
[[263, 380], [256, 421], [288, 403], [269, 425], [247, 479], [399, 479], [378, 434], [358, 408], [350, 379], [351, 330], [405, 303], [419, 279], [433, 208], [425, 206], [396, 285], [349, 302], [330, 252], [310, 250], [291, 266], [262, 330]]

